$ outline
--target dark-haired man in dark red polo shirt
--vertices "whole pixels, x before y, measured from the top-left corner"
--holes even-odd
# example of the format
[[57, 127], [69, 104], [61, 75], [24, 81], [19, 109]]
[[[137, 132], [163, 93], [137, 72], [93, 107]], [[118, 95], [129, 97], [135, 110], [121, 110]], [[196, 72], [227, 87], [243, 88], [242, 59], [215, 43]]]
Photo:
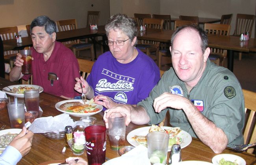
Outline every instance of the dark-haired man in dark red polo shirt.
[[[31, 23], [30, 33], [33, 42], [32, 74], [21, 73], [24, 61], [18, 53], [10, 80], [28, 80], [33, 75], [33, 84], [42, 86], [46, 93], [67, 99], [80, 95], [74, 91], [75, 78], [80, 77], [79, 65], [72, 51], [56, 41], [56, 23], [48, 16], [38, 16]], [[53, 83], [48, 80], [52, 73], [57, 75]]]

